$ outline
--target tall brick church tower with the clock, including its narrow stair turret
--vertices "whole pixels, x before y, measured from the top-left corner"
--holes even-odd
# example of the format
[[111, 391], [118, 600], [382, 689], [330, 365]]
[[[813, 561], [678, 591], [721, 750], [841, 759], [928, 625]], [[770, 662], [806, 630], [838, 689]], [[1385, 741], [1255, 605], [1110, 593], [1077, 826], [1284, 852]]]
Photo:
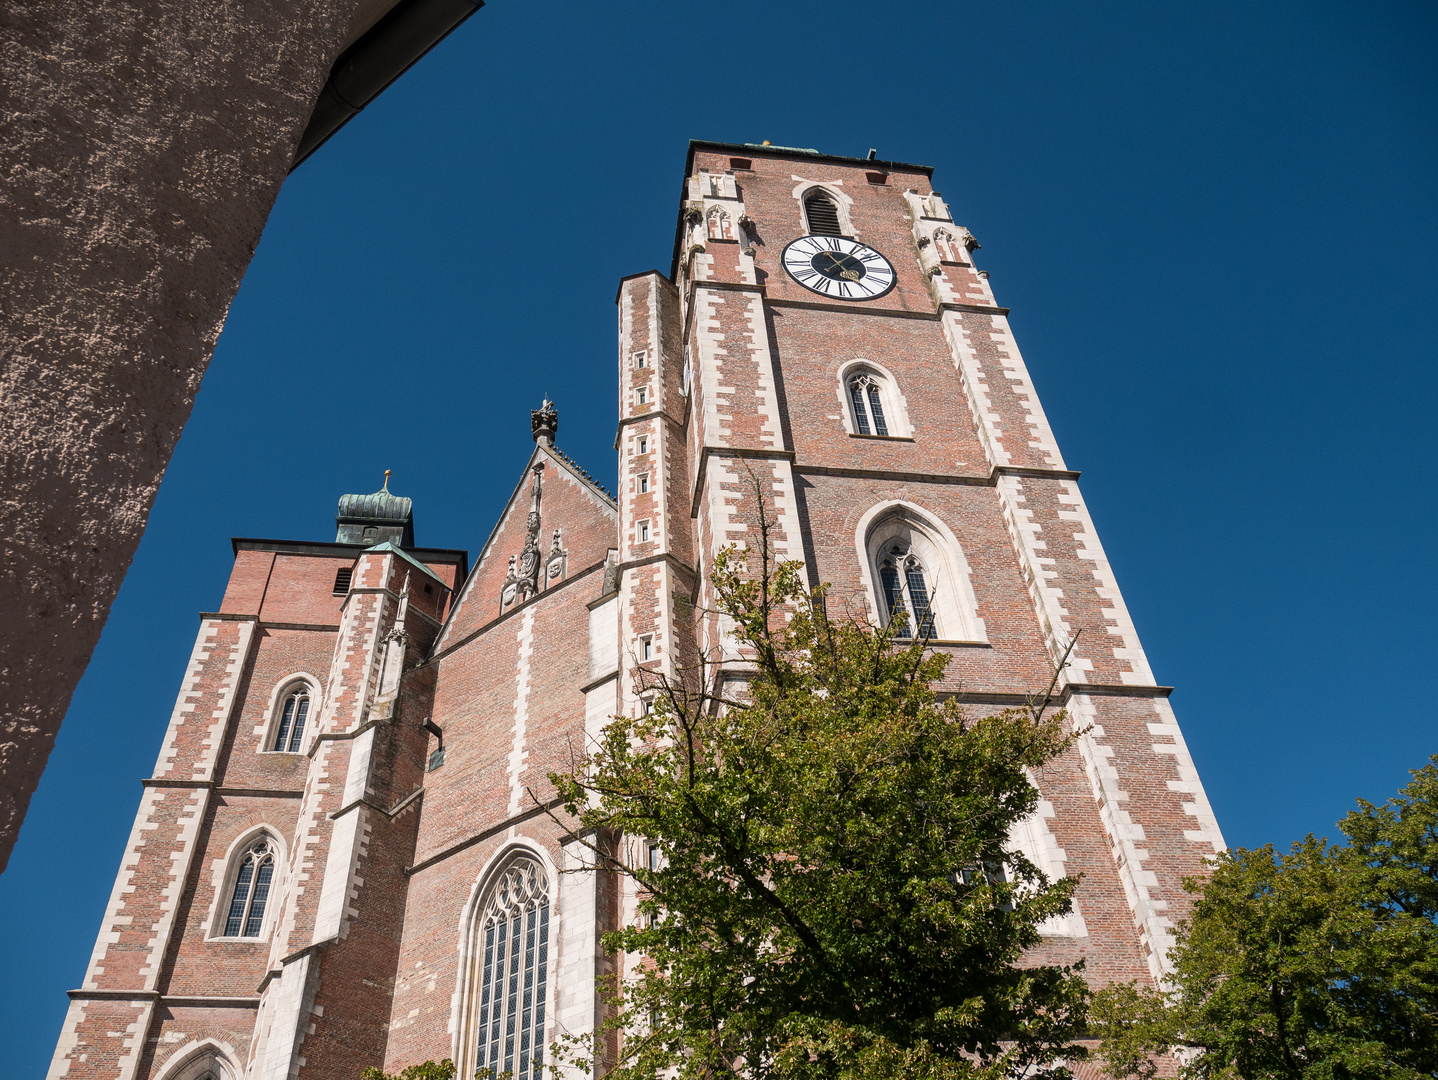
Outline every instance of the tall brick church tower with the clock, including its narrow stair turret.
[[975, 709], [1027, 702], [1071, 647], [1057, 702], [1087, 733], [1014, 838], [1050, 877], [1083, 876], [1041, 958], [1156, 979], [1182, 879], [1222, 837], [1008, 309], [930, 171], [690, 144], [670, 273], [618, 296], [623, 631], [654, 634], [660, 663], [720, 654], [720, 627], [683, 626], [674, 597], [712, 608], [705, 567], [754, 544], [762, 498], [777, 554], [830, 585], [831, 610], [902, 608]]

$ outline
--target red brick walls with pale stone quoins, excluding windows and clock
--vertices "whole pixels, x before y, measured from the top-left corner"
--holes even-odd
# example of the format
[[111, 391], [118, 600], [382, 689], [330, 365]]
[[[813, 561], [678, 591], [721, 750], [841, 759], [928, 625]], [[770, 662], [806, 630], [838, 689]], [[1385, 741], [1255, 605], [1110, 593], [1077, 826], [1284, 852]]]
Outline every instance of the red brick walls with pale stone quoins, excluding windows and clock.
[[[856, 618], [876, 614], [856, 546], [864, 515], [899, 500], [942, 522], [962, 548], [985, 639], [938, 646], [952, 657], [942, 689], [975, 712], [1047, 686], [1081, 631], [1061, 696], [1084, 735], [1035, 782], [1053, 808], [1045, 850], [1081, 879], [1087, 936], [1047, 936], [1030, 959], [1083, 959], [1097, 984], [1155, 971], [1188, 909], [1181, 880], [1221, 837], [1004, 312], [968, 246], [940, 252], [935, 240], [940, 224], [961, 239], [965, 230], [942, 203], [920, 203], [932, 193], [922, 171], [874, 163], [746, 151], [754, 167], [736, 170], [733, 187], [723, 178], [723, 191], [702, 191], [697, 171], [723, 171], [731, 157], [699, 148], [689, 188], [729, 216], [726, 234], [684, 226], [679, 282], [647, 273], [620, 290], [617, 506], [558, 453], [539, 447], [532, 459], [545, 463], [541, 552], [562, 529], [564, 578], [500, 607], [509, 557], [525, 542], [528, 469], [452, 614], [450, 595], [426, 592], [433, 582], [393, 554], [237, 554], [223, 617], [201, 624], [157, 768], [164, 785], [145, 794], [86, 976], [91, 988], [161, 997], [76, 1001], [62, 1037], [73, 1044], [69, 1076], [114, 1077], [137, 1056], [138, 1076], [152, 1076], [174, 1045], [201, 1037], [246, 1054], [262, 981], [311, 945], [313, 1008], [296, 1021], [302, 1077], [352, 1080], [368, 1064], [397, 1071], [450, 1056], [462, 923], [485, 866], [521, 840], [561, 861], [565, 828], [535, 800], [549, 800], [546, 775], [584, 751], [588, 604], [610, 549], [620, 558], [614, 700], [631, 709], [641, 634], [657, 646], [650, 669], [673, 672], [700, 649], [718, 656], [716, 624], [696, 627], [686, 601], [706, 603], [715, 551], [755, 544], [758, 499], [778, 552], [802, 558], [812, 581], [831, 584], [831, 613]], [[893, 292], [833, 302], [788, 279], [779, 253], [804, 227], [795, 175], [847, 197], [854, 236], [896, 267]], [[838, 370], [856, 358], [893, 377], [912, 436], [848, 433]], [[649, 541], [638, 521], [650, 522]], [[335, 571], [351, 565], [349, 595], [332, 595]], [[453, 562], [434, 569], [460, 584]], [[391, 631], [406, 580], [401, 646]], [[401, 653], [390, 693], [381, 673]], [[266, 752], [275, 693], [301, 673], [318, 686], [309, 725], [324, 738], [306, 741], [306, 754]], [[444, 732], [433, 772], [426, 718]], [[227, 899], [217, 894], [227, 853], [262, 824], [288, 857], [275, 929], [260, 942], [207, 941]], [[347, 876], [326, 884], [331, 873]], [[608, 928], [624, 910], [617, 882], [567, 892], [578, 880], [551, 882], [551, 1010], [564, 920]], [[321, 910], [326, 887], [342, 896], [338, 920], [334, 906]], [[216, 995], [229, 1001], [191, 999]]]

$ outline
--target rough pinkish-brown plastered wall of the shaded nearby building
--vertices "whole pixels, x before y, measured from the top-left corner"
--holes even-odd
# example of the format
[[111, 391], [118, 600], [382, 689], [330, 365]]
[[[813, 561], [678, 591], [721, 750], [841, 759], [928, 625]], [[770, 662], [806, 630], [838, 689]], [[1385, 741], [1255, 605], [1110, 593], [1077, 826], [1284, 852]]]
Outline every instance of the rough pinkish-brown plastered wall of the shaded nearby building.
[[0, 6], [0, 870], [355, 6]]

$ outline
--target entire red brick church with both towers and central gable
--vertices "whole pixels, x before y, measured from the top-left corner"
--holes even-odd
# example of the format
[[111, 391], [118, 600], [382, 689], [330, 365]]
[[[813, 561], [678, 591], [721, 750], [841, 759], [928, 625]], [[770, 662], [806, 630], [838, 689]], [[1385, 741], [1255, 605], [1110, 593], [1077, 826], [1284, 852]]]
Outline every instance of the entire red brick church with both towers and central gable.
[[472, 569], [388, 485], [335, 542], [236, 539], [50, 1077], [538, 1080], [636, 903], [546, 777], [647, 708], [640, 669], [723, 659], [693, 613], [761, 499], [831, 611], [903, 610], [975, 710], [1073, 646], [1086, 733], [1012, 843], [1081, 884], [1035, 952], [1158, 979], [1222, 837], [976, 249], [926, 167], [693, 142], [670, 273], [618, 289], [617, 498], [545, 403]]

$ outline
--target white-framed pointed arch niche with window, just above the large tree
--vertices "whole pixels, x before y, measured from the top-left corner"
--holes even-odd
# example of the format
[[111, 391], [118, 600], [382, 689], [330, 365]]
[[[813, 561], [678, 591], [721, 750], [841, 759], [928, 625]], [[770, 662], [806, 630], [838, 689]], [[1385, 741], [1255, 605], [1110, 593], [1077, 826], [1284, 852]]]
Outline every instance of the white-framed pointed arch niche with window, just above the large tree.
[[[854, 548], [864, 568], [870, 611], [880, 624], [903, 604], [910, 636], [988, 641], [963, 548], [932, 513], [900, 499], [881, 502], [858, 519]], [[917, 615], [915, 601], [923, 607]]]

